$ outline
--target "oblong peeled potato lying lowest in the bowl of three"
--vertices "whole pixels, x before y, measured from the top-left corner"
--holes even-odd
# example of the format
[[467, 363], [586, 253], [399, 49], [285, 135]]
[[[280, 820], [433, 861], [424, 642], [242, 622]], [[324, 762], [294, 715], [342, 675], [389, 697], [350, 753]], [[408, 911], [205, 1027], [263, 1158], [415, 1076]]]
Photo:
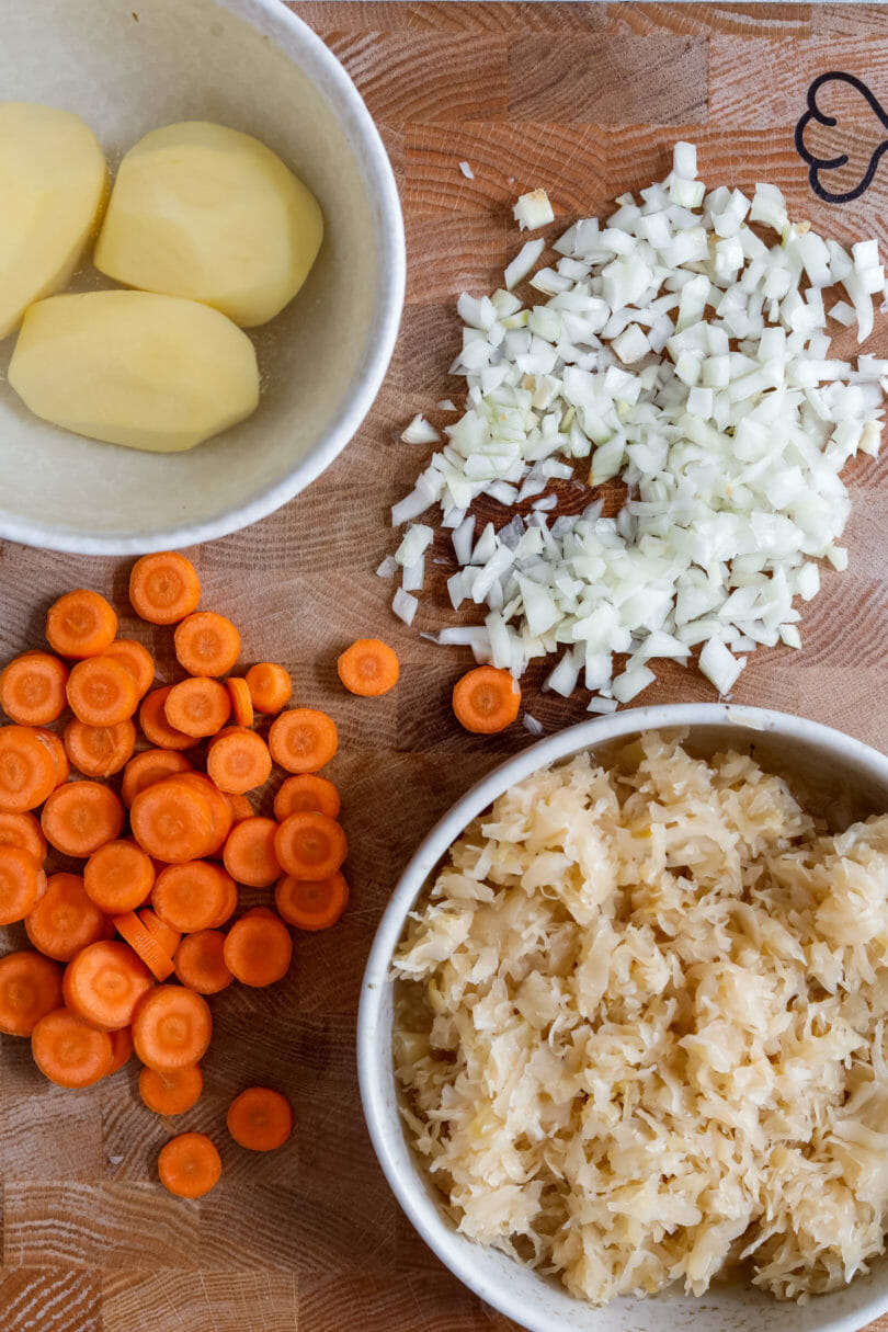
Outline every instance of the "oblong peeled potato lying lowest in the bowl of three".
[[178, 453], [256, 410], [246, 333], [149, 292], [52, 296], [28, 309], [9, 384], [44, 421], [128, 449]]

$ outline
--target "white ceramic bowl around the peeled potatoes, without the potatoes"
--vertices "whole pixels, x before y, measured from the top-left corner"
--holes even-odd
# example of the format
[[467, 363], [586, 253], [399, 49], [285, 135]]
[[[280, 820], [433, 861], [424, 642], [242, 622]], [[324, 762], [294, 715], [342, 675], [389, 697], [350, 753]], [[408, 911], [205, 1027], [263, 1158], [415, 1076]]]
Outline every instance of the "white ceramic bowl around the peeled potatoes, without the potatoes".
[[[129, 554], [256, 522], [345, 448], [394, 348], [403, 225], [369, 112], [281, 0], [0, 0], [0, 96], [77, 112], [112, 169], [149, 129], [216, 120], [280, 153], [326, 220], [306, 285], [254, 330], [258, 410], [190, 453], [140, 453], [39, 421], [5, 382], [15, 338], [0, 342], [0, 537]], [[76, 282], [113, 285], [88, 266]]]

